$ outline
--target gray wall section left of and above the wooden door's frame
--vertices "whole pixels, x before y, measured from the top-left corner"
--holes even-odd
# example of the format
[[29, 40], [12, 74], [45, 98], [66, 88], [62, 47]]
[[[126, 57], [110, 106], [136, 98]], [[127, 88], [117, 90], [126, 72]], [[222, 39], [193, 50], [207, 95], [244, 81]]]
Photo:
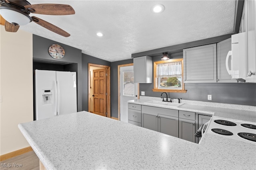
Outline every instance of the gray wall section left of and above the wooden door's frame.
[[[82, 54], [82, 110], [84, 111], [88, 111], [88, 63], [110, 66], [109, 61]], [[110, 78], [112, 78], [111, 74]]]

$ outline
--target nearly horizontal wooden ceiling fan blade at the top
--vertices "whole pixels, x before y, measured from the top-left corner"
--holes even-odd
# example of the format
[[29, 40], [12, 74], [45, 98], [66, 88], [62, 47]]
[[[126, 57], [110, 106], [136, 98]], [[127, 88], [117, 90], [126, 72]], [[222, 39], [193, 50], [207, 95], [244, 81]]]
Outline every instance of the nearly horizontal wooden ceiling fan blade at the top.
[[29, 12], [44, 15], [72, 15], [74, 9], [65, 4], [32, 4], [24, 6]]

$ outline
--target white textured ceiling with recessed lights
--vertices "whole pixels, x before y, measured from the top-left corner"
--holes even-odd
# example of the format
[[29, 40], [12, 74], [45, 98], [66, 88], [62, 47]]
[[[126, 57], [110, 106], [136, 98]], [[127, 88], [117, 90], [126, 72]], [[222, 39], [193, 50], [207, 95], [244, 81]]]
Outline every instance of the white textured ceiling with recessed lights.
[[[82, 50], [106, 61], [131, 59], [131, 54], [234, 32], [235, 0], [29, 0], [31, 4], [71, 5], [76, 14], [30, 14], [70, 33], [62, 37], [31, 22], [20, 29]], [[164, 12], [151, 7], [162, 4]], [[96, 32], [104, 33], [103, 37]], [[164, 51], [163, 51], [164, 52]]]

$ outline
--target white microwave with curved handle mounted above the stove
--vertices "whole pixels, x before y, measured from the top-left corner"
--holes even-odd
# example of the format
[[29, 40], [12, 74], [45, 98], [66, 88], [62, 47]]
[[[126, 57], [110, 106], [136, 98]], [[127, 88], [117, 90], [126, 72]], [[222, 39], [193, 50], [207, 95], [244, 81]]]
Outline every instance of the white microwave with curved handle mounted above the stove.
[[231, 36], [232, 51], [226, 57], [226, 68], [232, 79], [246, 78], [246, 32]]

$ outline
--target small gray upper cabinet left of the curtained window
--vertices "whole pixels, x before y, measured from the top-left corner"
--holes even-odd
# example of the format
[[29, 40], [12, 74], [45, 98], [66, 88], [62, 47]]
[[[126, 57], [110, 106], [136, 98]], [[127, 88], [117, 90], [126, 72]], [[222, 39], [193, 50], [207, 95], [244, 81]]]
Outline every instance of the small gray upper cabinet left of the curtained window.
[[134, 83], [152, 83], [153, 63], [152, 57], [142, 56], [133, 58]]

